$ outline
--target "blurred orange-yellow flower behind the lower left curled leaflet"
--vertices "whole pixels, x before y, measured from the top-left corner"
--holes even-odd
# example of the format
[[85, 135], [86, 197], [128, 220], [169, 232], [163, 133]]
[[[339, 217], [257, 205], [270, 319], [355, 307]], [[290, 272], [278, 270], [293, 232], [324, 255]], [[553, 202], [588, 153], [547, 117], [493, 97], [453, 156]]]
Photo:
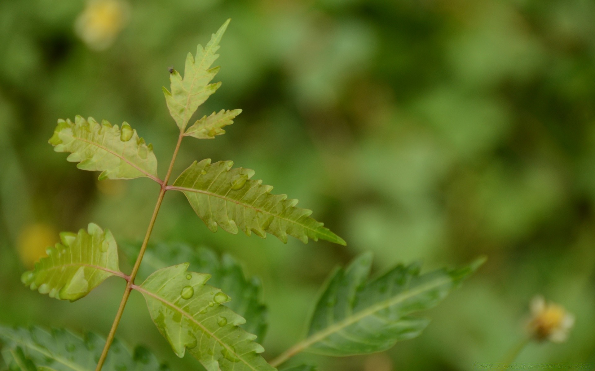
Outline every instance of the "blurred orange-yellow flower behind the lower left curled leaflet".
[[42, 256], [45, 256], [45, 249], [58, 242], [58, 233], [47, 224], [30, 224], [21, 230], [18, 235], [17, 249], [21, 261], [27, 268]]

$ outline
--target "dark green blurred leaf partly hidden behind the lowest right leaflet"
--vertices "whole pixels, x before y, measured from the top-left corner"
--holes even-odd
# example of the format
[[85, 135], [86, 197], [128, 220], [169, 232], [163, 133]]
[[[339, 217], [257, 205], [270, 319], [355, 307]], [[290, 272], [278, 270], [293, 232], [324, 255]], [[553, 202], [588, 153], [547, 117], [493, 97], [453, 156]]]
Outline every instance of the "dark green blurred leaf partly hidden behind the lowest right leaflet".
[[[140, 246], [124, 244], [120, 250], [126, 253], [130, 264], [134, 264]], [[146, 277], [157, 269], [183, 262], [189, 262], [190, 271], [211, 274], [209, 284], [233, 298], [224, 305], [246, 319], [240, 327], [255, 334], [262, 343], [267, 329], [267, 307], [262, 303], [261, 281], [258, 277], [246, 277], [242, 265], [231, 255], [226, 253], [219, 259], [210, 249], [197, 250], [181, 243], [149, 245], [140, 265], [140, 274]]]

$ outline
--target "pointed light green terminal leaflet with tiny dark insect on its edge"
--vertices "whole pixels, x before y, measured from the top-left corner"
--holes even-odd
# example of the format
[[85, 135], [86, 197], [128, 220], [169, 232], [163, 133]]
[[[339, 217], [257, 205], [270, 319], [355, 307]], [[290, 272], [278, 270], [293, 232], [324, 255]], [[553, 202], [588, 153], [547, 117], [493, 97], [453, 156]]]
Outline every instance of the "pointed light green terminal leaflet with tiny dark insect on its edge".
[[215, 52], [219, 49], [219, 42], [229, 21], [227, 20], [217, 33], [212, 34], [211, 41], [204, 49], [202, 45], [198, 45], [194, 58], [192, 53], [188, 53], [184, 78], [176, 70], [171, 72], [171, 93], [167, 88], [163, 88], [165, 102], [167, 102], [171, 117], [176, 121], [180, 131], [186, 129], [188, 121], [198, 106], [221, 86], [221, 83], [209, 84], [219, 72], [219, 67], [211, 68], [211, 65], [219, 58]]

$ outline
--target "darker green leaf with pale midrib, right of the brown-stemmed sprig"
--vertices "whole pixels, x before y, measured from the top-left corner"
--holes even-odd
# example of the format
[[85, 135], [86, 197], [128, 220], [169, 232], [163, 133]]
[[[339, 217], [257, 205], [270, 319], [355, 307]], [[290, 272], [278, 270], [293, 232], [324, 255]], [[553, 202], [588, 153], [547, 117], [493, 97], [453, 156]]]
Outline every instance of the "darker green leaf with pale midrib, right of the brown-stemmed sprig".
[[372, 255], [364, 253], [346, 269], [337, 269], [312, 315], [305, 350], [327, 356], [350, 356], [389, 349], [417, 337], [427, 319], [413, 313], [436, 306], [484, 259], [459, 269], [419, 274], [419, 266], [398, 265], [368, 281]]

